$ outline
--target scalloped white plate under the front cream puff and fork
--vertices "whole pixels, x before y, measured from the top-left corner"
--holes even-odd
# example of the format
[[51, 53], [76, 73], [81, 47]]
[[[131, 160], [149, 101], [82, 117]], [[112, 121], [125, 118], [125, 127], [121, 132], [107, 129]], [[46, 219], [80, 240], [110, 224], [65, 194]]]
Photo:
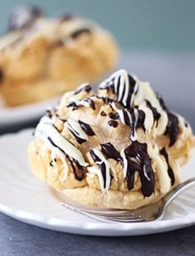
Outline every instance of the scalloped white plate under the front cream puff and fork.
[[[45, 183], [34, 178], [27, 161], [32, 129], [0, 138], [0, 211], [23, 222], [68, 233], [127, 236], [160, 233], [195, 223], [195, 188], [174, 200], [163, 220], [150, 223], [103, 223], [62, 208]], [[195, 157], [183, 168], [193, 177]]]

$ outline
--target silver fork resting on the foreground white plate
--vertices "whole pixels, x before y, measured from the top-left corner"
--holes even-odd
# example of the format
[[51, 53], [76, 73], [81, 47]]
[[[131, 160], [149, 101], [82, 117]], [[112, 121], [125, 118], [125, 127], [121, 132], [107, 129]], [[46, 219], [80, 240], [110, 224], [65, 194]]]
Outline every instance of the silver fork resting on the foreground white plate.
[[166, 193], [158, 202], [134, 210], [116, 210], [116, 209], [99, 209], [77, 206], [74, 203], [61, 203], [65, 208], [69, 208], [76, 213], [82, 213], [90, 218], [103, 221], [112, 221], [120, 223], [149, 222], [163, 218], [169, 203], [183, 193], [187, 188], [195, 185], [195, 178], [190, 178], [177, 187]]

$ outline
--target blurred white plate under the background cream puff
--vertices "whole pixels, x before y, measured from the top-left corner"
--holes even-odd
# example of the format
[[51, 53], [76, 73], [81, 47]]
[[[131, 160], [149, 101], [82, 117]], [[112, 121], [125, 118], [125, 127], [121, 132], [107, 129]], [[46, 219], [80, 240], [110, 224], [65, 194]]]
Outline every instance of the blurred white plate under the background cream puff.
[[7, 108], [3, 105], [0, 98], [0, 127], [14, 123], [32, 121], [41, 117], [48, 106], [56, 105], [57, 98], [51, 98], [41, 103], [31, 103], [24, 106]]

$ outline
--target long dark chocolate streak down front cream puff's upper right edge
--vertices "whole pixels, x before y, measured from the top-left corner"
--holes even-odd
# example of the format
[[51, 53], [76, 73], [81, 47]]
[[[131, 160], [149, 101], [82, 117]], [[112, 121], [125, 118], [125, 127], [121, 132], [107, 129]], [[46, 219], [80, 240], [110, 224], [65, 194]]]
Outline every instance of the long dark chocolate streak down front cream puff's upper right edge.
[[178, 133], [179, 133], [178, 117], [175, 114], [169, 112], [168, 108], [165, 106], [165, 104], [163, 102], [163, 98], [160, 98], [158, 95], [157, 95], [157, 97], [158, 97], [161, 107], [168, 115], [168, 124], [167, 124], [167, 128], [164, 132], [164, 135], [169, 136], [169, 138], [170, 138], [169, 147], [172, 147], [178, 138]]

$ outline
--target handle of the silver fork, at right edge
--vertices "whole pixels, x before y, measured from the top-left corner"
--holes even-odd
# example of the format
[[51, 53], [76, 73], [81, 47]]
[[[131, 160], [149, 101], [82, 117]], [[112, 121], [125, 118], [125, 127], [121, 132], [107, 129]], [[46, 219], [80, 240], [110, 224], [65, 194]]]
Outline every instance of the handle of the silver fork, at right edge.
[[166, 207], [169, 203], [173, 201], [174, 198], [177, 198], [180, 193], [183, 193], [188, 188], [192, 188], [195, 185], [195, 177], [189, 178], [183, 183], [178, 184], [177, 187], [173, 188], [169, 193], [164, 196], [164, 200], [166, 201]]

